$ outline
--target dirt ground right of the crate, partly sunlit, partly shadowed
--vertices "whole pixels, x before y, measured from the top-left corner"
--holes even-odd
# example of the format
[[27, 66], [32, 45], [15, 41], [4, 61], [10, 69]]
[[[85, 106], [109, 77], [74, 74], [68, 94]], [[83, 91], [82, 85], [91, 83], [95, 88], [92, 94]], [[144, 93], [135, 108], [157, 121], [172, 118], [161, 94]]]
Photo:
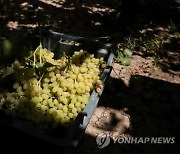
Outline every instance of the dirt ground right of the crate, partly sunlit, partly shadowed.
[[[179, 74], [134, 55], [131, 66], [113, 64], [106, 89], [79, 143], [82, 153], [178, 153], [175, 145], [113, 144], [98, 148], [96, 136], [176, 137], [179, 123]], [[176, 140], [176, 141], [177, 141]], [[178, 142], [178, 141], [177, 141]]]

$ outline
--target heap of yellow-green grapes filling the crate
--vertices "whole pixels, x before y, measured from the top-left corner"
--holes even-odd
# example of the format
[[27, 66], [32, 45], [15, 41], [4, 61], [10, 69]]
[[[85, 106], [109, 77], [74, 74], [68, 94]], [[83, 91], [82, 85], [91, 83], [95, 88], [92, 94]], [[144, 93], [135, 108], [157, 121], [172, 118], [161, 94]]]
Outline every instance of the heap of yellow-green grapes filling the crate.
[[14, 91], [6, 94], [3, 106], [7, 114], [44, 124], [46, 128], [57, 127], [76, 119], [92, 90], [101, 92], [100, 75], [106, 67], [103, 58], [80, 50], [68, 60], [54, 60], [53, 53], [46, 49], [36, 51], [34, 58], [36, 63], [48, 61], [57, 65], [47, 67], [41, 76], [17, 80]]

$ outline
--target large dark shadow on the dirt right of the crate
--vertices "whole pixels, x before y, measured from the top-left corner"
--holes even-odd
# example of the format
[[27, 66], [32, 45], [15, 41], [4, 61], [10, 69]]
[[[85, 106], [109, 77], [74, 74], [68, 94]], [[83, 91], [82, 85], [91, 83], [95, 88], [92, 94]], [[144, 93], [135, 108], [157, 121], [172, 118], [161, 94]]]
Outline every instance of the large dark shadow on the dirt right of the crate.
[[[131, 76], [129, 83], [127, 87], [120, 79], [110, 78], [99, 106], [123, 111], [130, 118], [130, 127], [124, 131], [120, 130], [124, 135], [175, 137], [175, 143], [113, 144], [112, 140], [112, 144], [100, 149], [97, 147], [96, 138], [91, 134], [85, 134], [79, 143], [78, 153], [178, 153], [180, 85], [139, 75]], [[100, 128], [102, 132], [110, 132], [117, 127], [117, 119], [120, 117], [114, 115], [110, 118], [106, 126], [111, 128], [107, 129], [103, 124]], [[111, 123], [113, 121], [114, 125]]]

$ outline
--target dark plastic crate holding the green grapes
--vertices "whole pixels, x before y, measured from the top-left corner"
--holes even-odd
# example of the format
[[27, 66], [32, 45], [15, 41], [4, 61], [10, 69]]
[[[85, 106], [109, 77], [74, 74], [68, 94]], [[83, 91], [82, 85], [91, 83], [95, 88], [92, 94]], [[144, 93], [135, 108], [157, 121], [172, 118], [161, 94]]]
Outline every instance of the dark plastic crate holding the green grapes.
[[[112, 44], [109, 43], [95, 42], [82, 37], [65, 35], [54, 31], [43, 32], [40, 38], [34, 37], [33, 35], [31, 35], [30, 38], [31, 39], [28, 37], [29, 42], [26, 43], [23, 49], [34, 50], [38, 44], [32, 42], [38, 43], [39, 40], [41, 40], [43, 47], [55, 53], [55, 58], [61, 57], [63, 52], [66, 52], [67, 55], [72, 55], [74, 51], [79, 51], [80, 49], [93, 53], [95, 57], [104, 57], [107, 64], [111, 64], [114, 58], [114, 48]], [[105, 82], [110, 72], [111, 66], [107, 66], [101, 75], [101, 80]], [[104, 86], [100, 93], [97, 93], [95, 90], [92, 91], [86, 107], [78, 114], [75, 122], [68, 128], [67, 133], [63, 137], [44, 133], [30, 125], [27, 121], [15, 120], [6, 117], [2, 112], [0, 115], [0, 122], [3, 125], [16, 128], [20, 131], [28, 133], [31, 136], [51, 142], [57, 146], [68, 147], [67, 153], [71, 153], [73, 152], [73, 148], [75, 148], [80, 141], [80, 138], [93, 115], [103, 90]]]

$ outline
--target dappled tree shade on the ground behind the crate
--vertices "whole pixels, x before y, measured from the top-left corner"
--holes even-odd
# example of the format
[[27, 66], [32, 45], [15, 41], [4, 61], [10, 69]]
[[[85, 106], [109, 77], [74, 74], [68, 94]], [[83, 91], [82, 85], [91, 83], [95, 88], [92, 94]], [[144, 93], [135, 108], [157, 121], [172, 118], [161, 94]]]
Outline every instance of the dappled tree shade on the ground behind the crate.
[[[144, 37], [147, 41], [136, 42], [138, 50], [134, 54], [157, 55], [164, 71], [179, 71], [180, 11], [176, 0], [2, 0], [0, 6], [0, 40], [50, 29], [124, 46], [130, 37], [139, 40]], [[144, 44], [156, 40], [160, 33], [168, 34], [168, 40], [160, 37], [157, 40], [161, 48], [155, 53], [149, 53], [148, 49], [141, 52], [139, 47], [146, 47]], [[170, 56], [171, 51], [175, 54]]]

